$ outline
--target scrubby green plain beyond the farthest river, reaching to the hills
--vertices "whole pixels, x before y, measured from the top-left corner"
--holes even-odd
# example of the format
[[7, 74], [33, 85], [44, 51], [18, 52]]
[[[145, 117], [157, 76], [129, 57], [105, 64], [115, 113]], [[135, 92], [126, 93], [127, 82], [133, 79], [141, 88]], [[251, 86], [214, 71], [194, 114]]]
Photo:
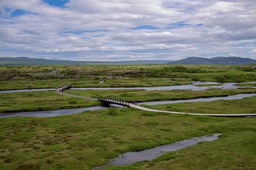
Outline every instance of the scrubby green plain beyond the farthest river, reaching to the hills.
[[[256, 71], [246, 69], [249, 67], [255, 66], [0, 66], [0, 90], [55, 88], [70, 83], [74, 87], [156, 87], [191, 81], [256, 81]], [[106, 78], [106, 83], [100, 84], [100, 78]]]

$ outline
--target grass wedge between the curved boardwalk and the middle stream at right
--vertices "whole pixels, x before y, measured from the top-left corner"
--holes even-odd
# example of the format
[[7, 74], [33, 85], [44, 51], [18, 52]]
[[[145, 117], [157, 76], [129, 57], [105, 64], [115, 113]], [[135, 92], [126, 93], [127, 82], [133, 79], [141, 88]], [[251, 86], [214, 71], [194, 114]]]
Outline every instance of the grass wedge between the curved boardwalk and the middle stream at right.
[[220, 100], [198, 103], [175, 103], [146, 106], [157, 110], [180, 111], [186, 113], [256, 113], [255, 97], [236, 100]]

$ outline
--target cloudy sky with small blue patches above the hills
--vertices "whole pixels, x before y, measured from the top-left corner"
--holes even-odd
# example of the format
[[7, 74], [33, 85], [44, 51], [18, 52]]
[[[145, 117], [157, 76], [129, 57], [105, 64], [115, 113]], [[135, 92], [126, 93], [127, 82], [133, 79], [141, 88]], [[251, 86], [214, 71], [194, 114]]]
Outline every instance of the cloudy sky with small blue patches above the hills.
[[0, 57], [256, 59], [256, 0], [0, 0]]

